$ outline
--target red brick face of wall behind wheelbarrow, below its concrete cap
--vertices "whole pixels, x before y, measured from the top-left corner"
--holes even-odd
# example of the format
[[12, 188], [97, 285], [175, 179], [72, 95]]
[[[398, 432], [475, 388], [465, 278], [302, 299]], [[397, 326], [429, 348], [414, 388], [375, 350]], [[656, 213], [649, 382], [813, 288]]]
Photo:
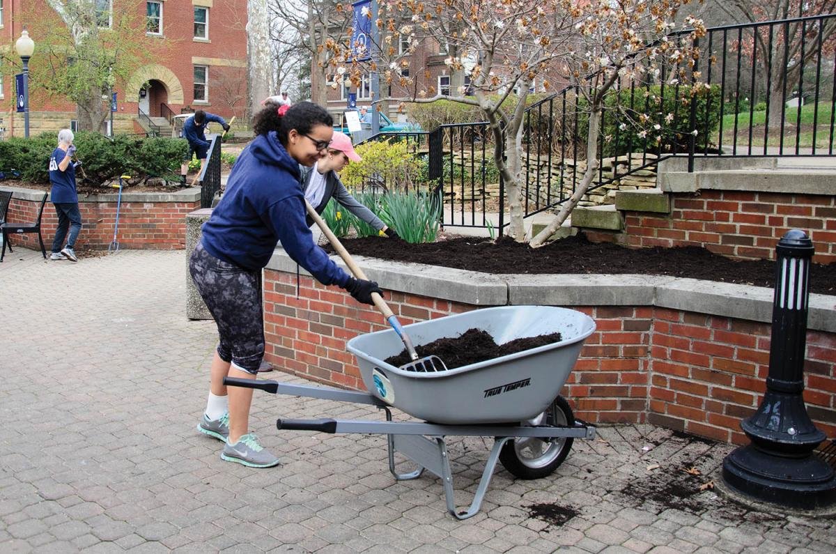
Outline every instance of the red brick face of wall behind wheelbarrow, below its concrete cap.
[[[401, 323], [484, 305], [386, 292]], [[388, 328], [380, 314], [307, 275], [266, 269], [266, 359], [314, 381], [364, 389], [346, 342]], [[568, 306], [590, 315], [589, 336], [563, 396], [594, 423], [655, 423], [741, 444], [740, 422], [757, 408], [769, 364], [770, 326], [658, 306]], [[808, 412], [836, 437], [836, 333], [809, 331]]]

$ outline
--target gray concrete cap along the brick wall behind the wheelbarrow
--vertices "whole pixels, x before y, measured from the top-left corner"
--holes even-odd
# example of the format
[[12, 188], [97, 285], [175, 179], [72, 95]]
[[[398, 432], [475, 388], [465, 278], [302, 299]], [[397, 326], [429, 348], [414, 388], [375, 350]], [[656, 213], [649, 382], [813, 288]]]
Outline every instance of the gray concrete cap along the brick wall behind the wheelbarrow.
[[[344, 268], [338, 256], [332, 256]], [[653, 305], [770, 323], [774, 292], [736, 285], [645, 274], [485, 274], [384, 259], [355, 260], [386, 290], [471, 305]], [[267, 269], [293, 274], [296, 263], [276, 249]], [[308, 274], [304, 269], [300, 273]], [[836, 332], [836, 296], [810, 295], [808, 329]]]

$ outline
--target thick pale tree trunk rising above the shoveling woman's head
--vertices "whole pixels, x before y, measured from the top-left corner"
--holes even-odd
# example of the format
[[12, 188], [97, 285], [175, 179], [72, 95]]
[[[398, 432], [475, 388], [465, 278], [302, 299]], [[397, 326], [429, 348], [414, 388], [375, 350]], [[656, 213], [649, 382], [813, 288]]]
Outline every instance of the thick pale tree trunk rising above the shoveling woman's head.
[[247, 64], [250, 114], [261, 110], [261, 101], [273, 91], [270, 23], [267, 0], [247, 1]]

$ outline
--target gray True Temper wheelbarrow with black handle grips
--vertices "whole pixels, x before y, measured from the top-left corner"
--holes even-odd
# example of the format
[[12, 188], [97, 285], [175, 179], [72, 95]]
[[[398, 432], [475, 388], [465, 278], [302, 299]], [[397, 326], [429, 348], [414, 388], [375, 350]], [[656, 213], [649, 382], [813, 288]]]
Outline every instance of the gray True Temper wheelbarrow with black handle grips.
[[[463, 520], [482, 505], [497, 461], [521, 479], [541, 479], [558, 468], [573, 439], [593, 439], [595, 428], [576, 421], [559, 395], [594, 321], [576, 310], [551, 306], [502, 306], [448, 315], [405, 326], [415, 344], [461, 336], [471, 328], [487, 331], [502, 344], [559, 332], [562, 340], [508, 356], [439, 372], [413, 372], [384, 362], [403, 349], [395, 331], [356, 336], [348, 350], [356, 357], [369, 392], [229, 378], [228, 385], [308, 398], [364, 403], [384, 410], [386, 421], [278, 419], [279, 429], [323, 433], [387, 435], [389, 469], [396, 480], [417, 479], [424, 470], [441, 478], [447, 510]], [[393, 421], [391, 408], [422, 422]], [[471, 505], [456, 509], [447, 436], [493, 437], [482, 479]], [[395, 452], [416, 469], [395, 471]]]

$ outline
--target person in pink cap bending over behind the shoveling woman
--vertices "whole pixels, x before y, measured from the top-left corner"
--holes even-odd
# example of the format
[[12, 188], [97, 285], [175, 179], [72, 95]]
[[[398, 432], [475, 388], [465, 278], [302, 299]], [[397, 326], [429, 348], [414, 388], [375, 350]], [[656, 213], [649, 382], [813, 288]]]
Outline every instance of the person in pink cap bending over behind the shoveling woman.
[[[349, 163], [359, 162], [361, 159], [354, 151], [354, 146], [351, 146], [349, 136], [334, 131], [325, 156], [319, 158], [313, 167], [299, 167], [302, 172], [300, 182], [302, 182], [305, 198], [314, 207], [316, 213], [323, 213], [331, 197], [334, 197], [345, 209], [378, 231], [382, 231], [390, 239], [400, 239], [395, 229], [388, 227], [369, 208], [357, 202], [339, 180], [338, 172], [341, 172]], [[313, 224], [314, 220], [308, 217], [308, 225]]]

